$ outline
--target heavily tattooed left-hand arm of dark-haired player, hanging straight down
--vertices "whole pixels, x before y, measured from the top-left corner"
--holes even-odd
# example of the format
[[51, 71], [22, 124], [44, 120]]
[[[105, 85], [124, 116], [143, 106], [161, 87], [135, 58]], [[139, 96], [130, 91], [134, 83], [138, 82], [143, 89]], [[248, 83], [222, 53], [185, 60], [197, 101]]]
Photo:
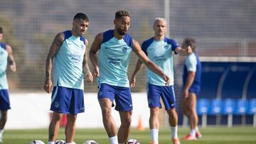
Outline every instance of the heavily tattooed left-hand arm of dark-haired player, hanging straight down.
[[50, 45], [50, 50], [46, 58], [46, 81], [43, 86], [43, 89], [45, 89], [45, 91], [48, 93], [50, 93], [53, 90], [53, 83], [50, 78], [50, 75], [51, 75], [50, 72], [53, 68], [53, 58], [55, 57], [58, 50], [60, 49], [60, 46], [63, 44], [64, 39], [65, 39], [64, 33], [58, 33], [55, 36], [53, 43]]

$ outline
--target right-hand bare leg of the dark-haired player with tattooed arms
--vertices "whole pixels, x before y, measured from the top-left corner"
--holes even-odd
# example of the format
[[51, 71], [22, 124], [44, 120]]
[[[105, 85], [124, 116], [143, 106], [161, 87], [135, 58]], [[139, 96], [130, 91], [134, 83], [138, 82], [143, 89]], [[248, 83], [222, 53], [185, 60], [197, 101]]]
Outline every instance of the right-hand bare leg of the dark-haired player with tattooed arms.
[[77, 114], [67, 114], [67, 125], [65, 126], [65, 143], [73, 143], [75, 137], [75, 121]]

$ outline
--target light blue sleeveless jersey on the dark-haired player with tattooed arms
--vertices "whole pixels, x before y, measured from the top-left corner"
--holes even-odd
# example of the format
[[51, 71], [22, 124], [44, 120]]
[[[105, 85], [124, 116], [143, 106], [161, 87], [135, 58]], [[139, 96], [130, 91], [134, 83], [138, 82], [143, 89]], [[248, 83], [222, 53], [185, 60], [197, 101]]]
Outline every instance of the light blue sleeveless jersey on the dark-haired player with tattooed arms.
[[71, 31], [63, 33], [65, 40], [54, 58], [54, 86], [84, 89], [82, 61], [85, 38], [75, 37]]

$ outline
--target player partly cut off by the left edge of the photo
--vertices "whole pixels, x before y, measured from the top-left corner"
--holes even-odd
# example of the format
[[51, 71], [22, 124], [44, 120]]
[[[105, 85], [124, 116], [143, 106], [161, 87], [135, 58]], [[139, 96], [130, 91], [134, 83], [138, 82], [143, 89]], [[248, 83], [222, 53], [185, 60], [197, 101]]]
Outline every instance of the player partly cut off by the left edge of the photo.
[[3, 142], [4, 126], [7, 121], [7, 111], [11, 109], [9, 101], [9, 87], [6, 78], [6, 67], [9, 63], [12, 72], [16, 72], [16, 62], [10, 45], [1, 43], [4, 31], [0, 27], [0, 143]]

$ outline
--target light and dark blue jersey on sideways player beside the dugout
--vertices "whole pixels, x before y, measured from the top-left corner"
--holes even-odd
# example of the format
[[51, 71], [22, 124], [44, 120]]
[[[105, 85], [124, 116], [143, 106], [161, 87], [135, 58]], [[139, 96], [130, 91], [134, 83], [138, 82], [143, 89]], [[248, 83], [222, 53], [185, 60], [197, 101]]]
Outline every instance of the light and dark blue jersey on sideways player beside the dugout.
[[186, 57], [183, 68], [183, 86], [185, 86], [186, 84], [188, 72], [196, 72], [193, 84], [189, 89], [190, 92], [195, 92], [196, 94], [199, 94], [201, 90], [201, 67], [201, 61], [199, 60], [199, 57], [195, 52], [191, 53], [191, 55], [188, 55]]

